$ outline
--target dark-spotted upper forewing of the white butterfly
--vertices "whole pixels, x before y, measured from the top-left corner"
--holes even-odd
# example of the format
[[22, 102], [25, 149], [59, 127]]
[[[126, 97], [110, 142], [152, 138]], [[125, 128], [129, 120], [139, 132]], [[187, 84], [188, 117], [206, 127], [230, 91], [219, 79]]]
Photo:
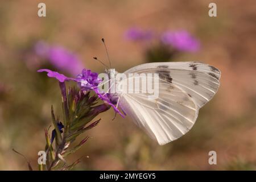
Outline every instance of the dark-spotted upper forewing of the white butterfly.
[[125, 73], [159, 73], [159, 78], [179, 87], [202, 107], [212, 99], [220, 85], [220, 71], [198, 62], [147, 63]]

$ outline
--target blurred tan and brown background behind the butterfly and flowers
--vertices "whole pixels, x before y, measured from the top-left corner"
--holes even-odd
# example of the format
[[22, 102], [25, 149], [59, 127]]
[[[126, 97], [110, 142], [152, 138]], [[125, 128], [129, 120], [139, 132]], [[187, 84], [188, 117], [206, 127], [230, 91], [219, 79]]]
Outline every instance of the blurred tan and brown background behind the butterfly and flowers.
[[[37, 15], [39, 2], [46, 3], [46, 18]], [[256, 3], [214, 1], [217, 17], [210, 18], [210, 2], [1, 1], [0, 169], [27, 170], [12, 148], [36, 169], [37, 153], [44, 150], [43, 129], [51, 125], [51, 105], [61, 113], [57, 82], [28, 69], [24, 51], [44, 40], [75, 52], [86, 68], [103, 72], [92, 57], [106, 60], [104, 37], [112, 65], [122, 72], [146, 61], [143, 47], [124, 39], [130, 27], [191, 32], [201, 49], [177, 61], [200, 60], [219, 68], [220, 89], [200, 110], [192, 130], [165, 146], [129, 117], [111, 121], [113, 110], [101, 114], [100, 125], [88, 133], [92, 138], [68, 162], [88, 155], [75, 169], [256, 169]], [[208, 163], [211, 150], [217, 152], [217, 165]]]

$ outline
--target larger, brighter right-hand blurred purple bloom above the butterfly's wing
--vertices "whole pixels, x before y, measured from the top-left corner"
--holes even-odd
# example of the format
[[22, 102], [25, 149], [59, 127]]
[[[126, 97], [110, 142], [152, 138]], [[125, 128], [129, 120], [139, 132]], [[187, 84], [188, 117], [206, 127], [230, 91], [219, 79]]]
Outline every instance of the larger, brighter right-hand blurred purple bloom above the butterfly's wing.
[[187, 31], [164, 32], [161, 40], [164, 44], [171, 45], [179, 51], [195, 52], [200, 48], [199, 40]]

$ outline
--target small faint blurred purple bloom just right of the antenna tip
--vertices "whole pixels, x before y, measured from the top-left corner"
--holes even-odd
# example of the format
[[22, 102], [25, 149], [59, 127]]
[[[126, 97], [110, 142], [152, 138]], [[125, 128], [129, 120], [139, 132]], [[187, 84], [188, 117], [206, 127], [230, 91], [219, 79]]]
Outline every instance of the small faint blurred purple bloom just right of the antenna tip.
[[129, 40], [151, 40], [152, 32], [149, 30], [143, 31], [139, 28], [130, 28], [126, 31], [125, 36]]

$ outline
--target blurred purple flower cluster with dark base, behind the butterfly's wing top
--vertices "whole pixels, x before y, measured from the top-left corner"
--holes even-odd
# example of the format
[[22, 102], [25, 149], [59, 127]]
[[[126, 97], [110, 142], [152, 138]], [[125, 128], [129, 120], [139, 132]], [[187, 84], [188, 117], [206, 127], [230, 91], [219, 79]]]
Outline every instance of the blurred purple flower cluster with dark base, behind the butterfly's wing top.
[[144, 54], [147, 61], [153, 62], [171, 61], [179, 53], [196, 52], [200, 49], [199, 40], [185, 30], [166, 31], [159, 35], [153, 34], [151, 30], [133, 27], [126, 31], [125, 37], [134, 42], [147, 43], [142, 45]]

